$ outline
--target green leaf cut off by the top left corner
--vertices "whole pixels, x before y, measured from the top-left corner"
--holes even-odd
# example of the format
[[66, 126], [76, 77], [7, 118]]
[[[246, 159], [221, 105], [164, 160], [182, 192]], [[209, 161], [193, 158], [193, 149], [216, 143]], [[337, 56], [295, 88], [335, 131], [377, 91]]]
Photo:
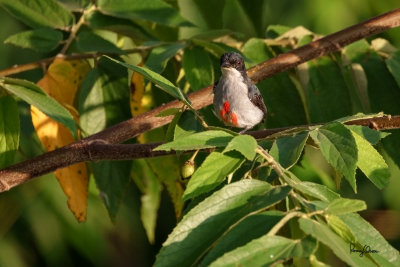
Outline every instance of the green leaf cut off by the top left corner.
[[72, 13], [54, 0], [0, 0], [0, 6], [33, 28], [65, 28], [74, 22]]

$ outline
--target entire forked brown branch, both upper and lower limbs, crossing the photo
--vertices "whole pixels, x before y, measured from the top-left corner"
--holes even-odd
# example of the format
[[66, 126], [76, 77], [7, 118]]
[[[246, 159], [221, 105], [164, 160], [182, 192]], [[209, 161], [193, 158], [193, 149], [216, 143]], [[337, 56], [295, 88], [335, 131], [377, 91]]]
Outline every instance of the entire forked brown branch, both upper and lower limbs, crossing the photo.
[[[347, 44], [398, 26], [400, 26], [400, 9], [395, 9], [265, 61], [249, 69], [249, 77], [255, 82], [259, 82], [310, 59], [339, 50]], [[213, 98], [211, 89], [212, 86], [208, 86], [188, 96], [195, 109], [200, 109], [211, 104]], [[157, 117], [156, 115], [163, 110], [174, 107], [179, 108], [181, 106], [182, 103], [179, 101], [172, 101], [85, 139], [0, 170], [0, 192], [7, 191], [34, 177], [82, 161], [160, 156], [163, 152], [152, 151], [157, 144], [111, 144], [124, 142], [141, 133], [169, 123], [173, 116]], [[366, 124], [366, 126], [372, 125], [371, 127], [378, 127], [378, 129], [400, 128], [400, 118], [398, 116], [391, 118], [385, 117], [385, 119], [381, 120], [382, 121], [379, 122], [361, 120], [359, 123], [361, 125]], [[382, 125], [380, 123], [382, 123]], [[380, 125], [382, 127], [379, 127]], [[261, 132], [253, 132], [252, 134], [256, 138], [260, 138], [280, 130], [285, 130], [285, 128], [264, 130]], [[104, 146], [106, 146], [106, 148]]]

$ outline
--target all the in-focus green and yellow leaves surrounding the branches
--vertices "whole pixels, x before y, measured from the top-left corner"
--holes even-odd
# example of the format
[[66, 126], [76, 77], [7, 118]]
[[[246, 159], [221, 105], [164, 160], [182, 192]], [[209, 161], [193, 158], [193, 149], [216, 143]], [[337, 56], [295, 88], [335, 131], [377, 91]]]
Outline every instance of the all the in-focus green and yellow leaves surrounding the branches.
[[[79, 221], [86, 218], [89, 177], [97, 186], [89, 192], [97, 190], [112, 221], [133, 182], [150, 242], [157, 239], [163, 189], [178, 220], [156, 266], [319, 266], [329, 263], [327, 250], [351, 266], [400, 265], [398, 250], [357, 214], [367, 200], [340, 194], [341, 186], [357, 193], [365, 178], [383, 189], [394, 164], [400, 166], [398, 131], [389, 135], [345, 124], [383, 116], [382, 111], [400, 113], [396, 47], [381, 38], [361, 40], [260, 82], [268, 108], [260, 128], [313, 126], [256, 140], [220, 128], [210, 108], [193, 110], [187, 94], [216, 81], [225, 51], [240, 51], [250, 67], [316, 34], [302, 27], [266, 27], [257, 1], [92, 2], [0, 0], [31, 28], [5, 43], [42, 57], [78, 55], [53, 60], [37, 84], [0, 77], [1, 168], [31, 149], [20, 113], [30, 112], [32, 136], [53, 150], [178, 99], [182, 108], [159, 114], [174, 116], [168, 126], [129, 141], [165, 141], [155, 150], [177, 156], [82, 163], [55, 173]], [[204, 122], [212, 127], [204, 129]], [[180, 167], [188, 156], [181, 152], [202, 149], [212, 151], [196, 152], [192, 160], [198, 167], [183, 181]], [[348, 249], [366, 245], [377, 253], [360, 257]]]

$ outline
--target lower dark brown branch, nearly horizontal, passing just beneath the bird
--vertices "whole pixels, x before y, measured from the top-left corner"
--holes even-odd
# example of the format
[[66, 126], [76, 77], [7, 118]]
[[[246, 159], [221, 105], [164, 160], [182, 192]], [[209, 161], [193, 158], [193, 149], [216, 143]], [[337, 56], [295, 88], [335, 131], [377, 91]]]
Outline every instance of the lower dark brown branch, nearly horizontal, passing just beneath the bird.
[[[376, 130], [400, 129], [400, 116], [384, 116], [349, 121], [349, 125], [363, 125]], [[310, 125], [296, 126], [308, 128]], [[257, 139], [265, 138], [293, 127], [253, 131], [248, 134]], [[44, 175], [79, 162], [99, 160], [130, 160], [175, 154], [175, 151], [153, 151], [162, 143], [151, 144], [109, 144], [101, 140], [82, 140], [60, 149], [45, 153], [33, 159], [20, 162], [0, 170], [0, 192], [7, 191], [34, 177]], [[186, 151], [191, 152], [191, 151]]]

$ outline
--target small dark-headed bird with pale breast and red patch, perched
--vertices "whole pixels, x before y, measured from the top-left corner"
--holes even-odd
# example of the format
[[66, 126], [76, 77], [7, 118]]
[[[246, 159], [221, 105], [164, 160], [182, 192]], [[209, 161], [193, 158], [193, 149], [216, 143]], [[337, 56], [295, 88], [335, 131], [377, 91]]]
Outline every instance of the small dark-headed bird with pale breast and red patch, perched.
[[213, 88], [215, 114], [225, 125], [244, 128], [239, 133], [245, 133], [264, 121], [267, 108], [239, 53], [224, 53], [220, 65], [222, 74]]

